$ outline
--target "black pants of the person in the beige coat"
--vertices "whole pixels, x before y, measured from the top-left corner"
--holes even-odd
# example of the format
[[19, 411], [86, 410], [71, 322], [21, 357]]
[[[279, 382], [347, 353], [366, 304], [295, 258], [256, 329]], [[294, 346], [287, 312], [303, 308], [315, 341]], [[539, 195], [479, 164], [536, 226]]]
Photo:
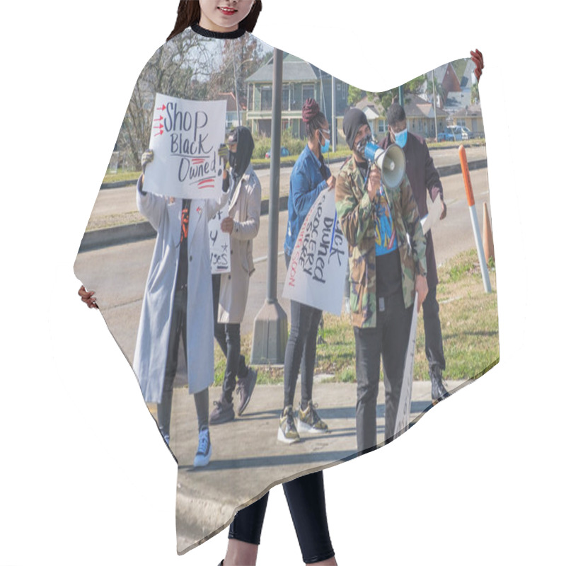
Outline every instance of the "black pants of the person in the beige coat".
[[222, 393], [226, 400], [232, 400], [232, 394], [236, 388], [236, 377], [246, 377], [248, 367], [246, 358], [241, 354], [240, 325], [222, 324], [218, 322], [218, 303], [220, 299], [220, 277], [212, 276], [212, 301], [214, 304], [214, 337], [220, 346], [222, 353], [226, 356], [226, 371], [222, 383]]

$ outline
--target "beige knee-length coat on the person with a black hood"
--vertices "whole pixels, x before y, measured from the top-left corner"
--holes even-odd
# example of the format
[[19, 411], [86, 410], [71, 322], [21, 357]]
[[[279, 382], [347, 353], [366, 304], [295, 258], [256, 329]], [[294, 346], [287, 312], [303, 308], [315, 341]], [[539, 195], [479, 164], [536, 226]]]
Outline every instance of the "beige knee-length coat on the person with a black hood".
[[250, 275], [255, 270], [252, 241], [260, 229], [261, 185], [251, 163], [234, 190], [228, 214], [234, 221], [230, 236], [231, 269], [220, 279], [218, 322], [240, 324], [246, 312]]

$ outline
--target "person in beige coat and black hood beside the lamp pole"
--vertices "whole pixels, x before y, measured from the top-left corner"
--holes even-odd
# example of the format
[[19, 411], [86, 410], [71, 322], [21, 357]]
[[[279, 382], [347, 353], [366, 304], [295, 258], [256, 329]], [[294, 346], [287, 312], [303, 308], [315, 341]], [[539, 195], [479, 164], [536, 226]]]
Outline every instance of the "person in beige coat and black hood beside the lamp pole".
[[224, 180], [229, 194], [228, 216], [220, 229], [230, 234], [230, 273], [212, 275], [214, 297], [214, 337], [226, 356], [226, 371], [219, 401], [210, 413], [210, 424], [234, 419], [232, 395], [238, 391], [238, 416], [246, 410], [258, 379], [255, 370], [246, 366], [240, 352], [240, 325], [246, 312], [248, 286], [253, 267], [253, 238], [258, 236], [261, 212], [261, 185], [250, 163], [254, 143], [250, 130], [243, 126], [228, 136], [230, 173]]

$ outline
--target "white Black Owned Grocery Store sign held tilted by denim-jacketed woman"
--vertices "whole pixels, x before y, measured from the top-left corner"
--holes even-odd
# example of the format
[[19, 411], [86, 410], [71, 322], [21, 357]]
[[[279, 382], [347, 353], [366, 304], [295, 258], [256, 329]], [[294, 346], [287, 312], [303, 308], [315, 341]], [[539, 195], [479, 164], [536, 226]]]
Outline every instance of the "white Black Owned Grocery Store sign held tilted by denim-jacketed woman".
[[348, 244], [337, 221], [334, 192], [323, 190], [296, 238], [283, 296], [340, 315]]

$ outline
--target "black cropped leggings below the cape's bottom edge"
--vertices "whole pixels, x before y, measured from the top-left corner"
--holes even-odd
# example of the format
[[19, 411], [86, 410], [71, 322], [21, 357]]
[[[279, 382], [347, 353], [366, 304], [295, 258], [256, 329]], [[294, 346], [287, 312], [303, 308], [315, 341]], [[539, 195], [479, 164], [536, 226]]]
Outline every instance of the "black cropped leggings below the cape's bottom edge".
[[[328, 560], [334, 556], [324, 499], [323, 473], [309, 473], [283, 484], [291, 518], [299, 539], [305, 564]], [[258, 545], [267, 507], [267, 492], [250, 506], [238, 511], [228, 538]]]

